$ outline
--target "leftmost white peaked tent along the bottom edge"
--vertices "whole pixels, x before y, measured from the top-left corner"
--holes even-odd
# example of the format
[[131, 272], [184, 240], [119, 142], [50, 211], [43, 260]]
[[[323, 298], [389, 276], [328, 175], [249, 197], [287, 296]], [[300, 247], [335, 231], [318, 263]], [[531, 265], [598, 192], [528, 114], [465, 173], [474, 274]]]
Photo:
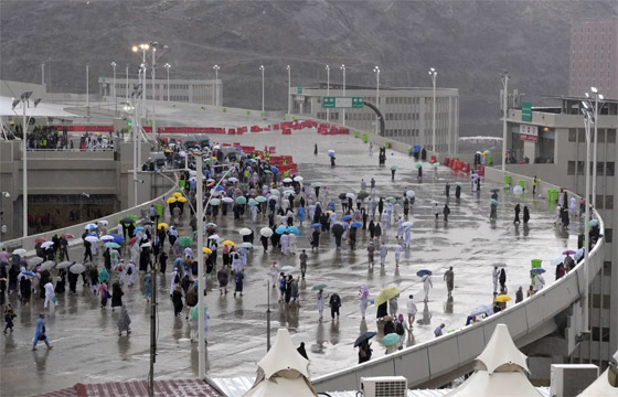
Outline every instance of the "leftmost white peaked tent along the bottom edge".
[[291, 343], [288, 330], [277, 332], [275, 343], [257, 363], [257, 377], [244, 397], [317, 396], [309, 382], [309, 361]]

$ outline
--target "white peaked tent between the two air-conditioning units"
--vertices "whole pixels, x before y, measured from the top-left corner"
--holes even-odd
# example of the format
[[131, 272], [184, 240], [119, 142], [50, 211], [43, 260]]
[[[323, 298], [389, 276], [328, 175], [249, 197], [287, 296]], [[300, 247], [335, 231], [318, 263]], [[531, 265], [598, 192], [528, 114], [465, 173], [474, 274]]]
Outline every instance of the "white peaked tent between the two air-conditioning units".
[[505, 324], [498, 324], [483, 352], [477, 357], [477, 371], [448, 397], [518, 396], [540, 397], [528, 380], [530, 372]]

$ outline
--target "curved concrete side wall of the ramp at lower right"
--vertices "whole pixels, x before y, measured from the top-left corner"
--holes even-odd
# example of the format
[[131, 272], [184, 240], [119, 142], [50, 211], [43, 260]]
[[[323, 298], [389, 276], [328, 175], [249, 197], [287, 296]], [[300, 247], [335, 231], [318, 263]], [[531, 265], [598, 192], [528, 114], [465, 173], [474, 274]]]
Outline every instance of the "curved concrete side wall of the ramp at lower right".
[[[545, 184], [545, 187], [555, 187]], [[573, 192], [569, 193], [577, 196]], [[600, 234], [604, 235], [604, 222], [596, 211], [594, 213], [599, 219]], [[513, 341], [518, 347], [522, 347], [556, 331], [554, 318], [563, 318], [564, 314], [568, 318], [564, 335], [571, 354], [577, 346], [576, 335], [582, 332], [582, 297], [586, 280], [584, 272], [588, 271], [588, 280], [592, 282], [594, 276], [603, 268], [603, 258], [604, 237], [599, 238], [590, 250], [588, 264], [582, 259], [575, 269], [562, 279], [504, 311], [403, 351], [318, 376], [312, 378], [311, 383], [317, 391], [356, 390], [361, 377], [405, 376], [408, 388], [440, 387], [452, 378], [472, 371], [475, 358], [489, 342], [496, 325], [507, 324]]]

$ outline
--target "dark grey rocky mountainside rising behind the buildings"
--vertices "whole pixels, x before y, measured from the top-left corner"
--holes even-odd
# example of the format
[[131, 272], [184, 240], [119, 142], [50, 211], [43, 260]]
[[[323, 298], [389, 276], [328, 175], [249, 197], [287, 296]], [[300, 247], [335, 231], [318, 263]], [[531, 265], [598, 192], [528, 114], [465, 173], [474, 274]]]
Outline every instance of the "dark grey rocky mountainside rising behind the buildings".
[[[258, 108], [259, 65], [266, 68], [266, 108], [287, 107], [287, 72], [292, 85], [341, 81], [383, 86], [437, 85], [460, 95], [460, 135], [499, 135], [500, 73], [534, 105], [542, 95], [565, 95], [571, 23], [616, 18], [614, 0], [2, 0], [0, 78], [46, 81], [54, 92], [90, 90], [111, 75], [124, 76], [140, 58], [132, 44], [159, 41], [170, 51], [172, 78], [213, 78], [221, 66], [224, 105]], [[50, 63], [50, 62], [47, 62]], [[131, 72], [132, 71], [132, 72]], [[163, 73], [160, 68], [159, 73]]]

